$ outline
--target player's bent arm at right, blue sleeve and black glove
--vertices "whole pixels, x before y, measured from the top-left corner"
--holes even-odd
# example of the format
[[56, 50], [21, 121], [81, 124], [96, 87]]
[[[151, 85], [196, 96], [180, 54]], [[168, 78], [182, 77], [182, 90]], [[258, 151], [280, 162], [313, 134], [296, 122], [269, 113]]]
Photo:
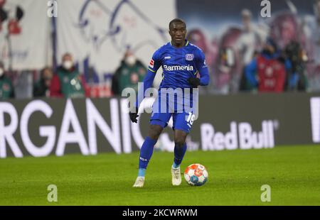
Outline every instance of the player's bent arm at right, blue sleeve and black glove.
[[189, 84], [191, 84], [193, 88], [198, 86], [207, 86], [210, 81], [210, 75], [208, 66], [206, 65], [206, 57], [201, 50], [198, 51], [198, 55], [196, 57], [196, 68], [199, 72], [200, 79], [196, 76], [190, 77], [188, 79]]

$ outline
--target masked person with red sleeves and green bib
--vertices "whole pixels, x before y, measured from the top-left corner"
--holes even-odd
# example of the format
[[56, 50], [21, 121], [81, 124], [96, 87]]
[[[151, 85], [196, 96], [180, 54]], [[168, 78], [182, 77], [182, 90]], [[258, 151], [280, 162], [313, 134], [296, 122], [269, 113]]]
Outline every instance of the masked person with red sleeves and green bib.
[[75, 68], [73, 57], [65, 53], [62, 66], [58, 67], [50, 84], [50, 97], [85, 97], [85, 80]]

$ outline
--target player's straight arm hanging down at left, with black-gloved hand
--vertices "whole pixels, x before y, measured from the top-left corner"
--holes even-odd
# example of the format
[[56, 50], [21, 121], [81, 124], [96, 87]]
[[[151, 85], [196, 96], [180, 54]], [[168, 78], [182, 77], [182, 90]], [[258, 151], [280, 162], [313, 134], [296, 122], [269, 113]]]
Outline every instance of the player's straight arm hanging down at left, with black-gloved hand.
[[161, 62], [159, 59], [159, 53], [158, 51], [156, 51], [156, 53], [154, 53], [154, 55], [152, 56], [152, 59], [150, 60], [149, 67], [146, 72], [146, 76], [144, 77], [144, 82], [142, 84], [142, 87], [138, 89], [138, 96], [137, 96], [136, 103], [134, 104], [134, 109], [131, 109], [129, 113], [130, 119], [134, 123], [137, 123], [138, 109], [145, 97], [146, 89], [151, 88], [154, 82], [154, 77], [156, 76], [156, 71], [159, 69], [160, 66], [161, 66]]

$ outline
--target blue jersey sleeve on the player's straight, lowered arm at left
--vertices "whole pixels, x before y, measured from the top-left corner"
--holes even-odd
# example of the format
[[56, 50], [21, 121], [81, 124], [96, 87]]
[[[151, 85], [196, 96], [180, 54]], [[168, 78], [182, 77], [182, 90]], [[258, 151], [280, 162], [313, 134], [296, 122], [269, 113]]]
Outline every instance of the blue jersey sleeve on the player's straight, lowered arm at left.
[[151, 88], [154, 77], [156, 76], [156, 71], [159, 70], [159, 67], [161, 66], [161, 51], [156, 50], [154, 55], [152, 56], [148, 71], [146, 72], [146, 76], [144, 77], [144, 82], [142, 84], [142, 87], [139, 87], [138, 90], [138, 97], [135, 103], [135, 106], [139, 108], [140, 104], [144, 100], [146, 89]]

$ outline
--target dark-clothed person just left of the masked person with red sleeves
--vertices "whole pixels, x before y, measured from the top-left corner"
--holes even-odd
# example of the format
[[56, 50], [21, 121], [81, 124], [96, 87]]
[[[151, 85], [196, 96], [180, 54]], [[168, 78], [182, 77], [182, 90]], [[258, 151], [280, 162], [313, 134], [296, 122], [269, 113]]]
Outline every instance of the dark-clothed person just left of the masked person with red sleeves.
[[50, 85], [53, 72], [50, 67], [41, 70], [41, 78], [33, 85], [33, 97], [50, 97]]

